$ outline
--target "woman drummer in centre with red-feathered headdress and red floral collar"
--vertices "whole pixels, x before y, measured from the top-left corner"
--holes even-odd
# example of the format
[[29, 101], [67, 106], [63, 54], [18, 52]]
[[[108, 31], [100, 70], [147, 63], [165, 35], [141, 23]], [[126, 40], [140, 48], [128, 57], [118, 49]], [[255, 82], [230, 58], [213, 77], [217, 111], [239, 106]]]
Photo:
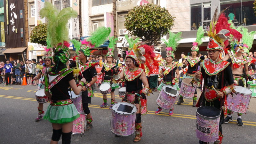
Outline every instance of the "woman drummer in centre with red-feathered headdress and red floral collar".
[[[126, 96], [124, 97], [123, 101], [134, 104], [137, 107], [135, 139], [133, 140], [133, 142], [140, 141], [142, 136], [141, 115], [146, 115], [148, 113], [146, 105], [146, 95], [148, 95], [149, 93], [149, 85], [145, 70], [140, 68], [140, 64], [145, 63], [145, 51], [154, 54], [151, 47], [145, 44], [139, 47], [135, 46], [135, 48], [132, 48], [132, 50], [126, 56], [126, 67], [124, 67], [124, 71], [120, 73], [119, 83], [123, 82], [123, 80], [125, 79], [126, 85]], [[148, 56], [147, 58], [151, 60], [154, 59], [154, 57], [150, 56]], [[145, 86], [144, 88], [142, 88], [142, 84]], [[135, 94], [132, 94], [132, 92], [139, 93], [142, 98]]]

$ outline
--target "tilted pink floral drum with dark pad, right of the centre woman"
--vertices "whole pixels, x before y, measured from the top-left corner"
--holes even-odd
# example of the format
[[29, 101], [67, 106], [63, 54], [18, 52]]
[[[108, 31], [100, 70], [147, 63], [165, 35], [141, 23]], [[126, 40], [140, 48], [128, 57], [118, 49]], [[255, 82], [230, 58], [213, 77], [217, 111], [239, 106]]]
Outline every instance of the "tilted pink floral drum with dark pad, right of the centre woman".
[[165, 85], [156, 98], [156, 104], [164, 109], [171, 109], [179, 96], [179, 92], [172, 86]]

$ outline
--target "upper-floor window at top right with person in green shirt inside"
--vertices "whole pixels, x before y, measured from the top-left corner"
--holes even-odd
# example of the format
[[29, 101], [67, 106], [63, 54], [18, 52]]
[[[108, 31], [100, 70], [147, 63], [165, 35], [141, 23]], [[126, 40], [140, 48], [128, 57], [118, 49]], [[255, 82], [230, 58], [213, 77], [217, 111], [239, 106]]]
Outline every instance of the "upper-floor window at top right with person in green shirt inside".
[[255, 25], [253, 2], [254, 0], [220, 0], [220, 11], [230, 6], [224, 13], [235, 26]]

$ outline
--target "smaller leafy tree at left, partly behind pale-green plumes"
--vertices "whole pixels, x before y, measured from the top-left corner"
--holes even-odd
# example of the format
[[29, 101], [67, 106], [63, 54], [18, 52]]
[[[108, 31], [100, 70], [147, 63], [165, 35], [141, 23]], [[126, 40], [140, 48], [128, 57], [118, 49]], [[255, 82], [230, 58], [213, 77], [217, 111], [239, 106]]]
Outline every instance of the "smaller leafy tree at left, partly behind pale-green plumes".
[[46, 46], [47, 26], [47, 23], [36, 26], [29, 35], [30, 42]]

